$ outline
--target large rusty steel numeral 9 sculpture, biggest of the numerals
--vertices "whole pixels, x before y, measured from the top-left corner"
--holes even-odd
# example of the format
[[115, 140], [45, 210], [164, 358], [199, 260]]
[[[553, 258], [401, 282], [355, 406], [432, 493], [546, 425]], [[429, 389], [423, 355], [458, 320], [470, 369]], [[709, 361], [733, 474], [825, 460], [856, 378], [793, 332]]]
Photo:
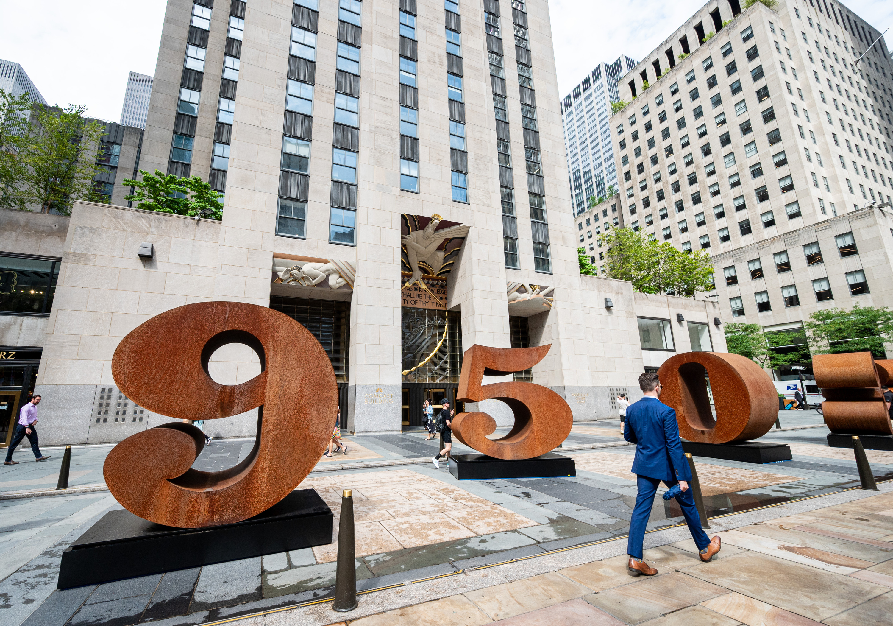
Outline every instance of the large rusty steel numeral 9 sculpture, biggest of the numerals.
[[[238, 385], [208, 374], [214, 350], [245, 344], [262, 372]], [[201, 430], [172, 422], [121, 441], [105, 459], [112, 495], [131, 513], [177, 528], [240, 522], [263, 513], [313, 469], [332, 431], [338, 385], [320, 342], [283, 313], [258, 305], [179, 306], [140, 324], [112, 359], [121, 393], [184, 420], [216, 420], [260, 407], [255, 447], [222, 472], [190, 468]]]

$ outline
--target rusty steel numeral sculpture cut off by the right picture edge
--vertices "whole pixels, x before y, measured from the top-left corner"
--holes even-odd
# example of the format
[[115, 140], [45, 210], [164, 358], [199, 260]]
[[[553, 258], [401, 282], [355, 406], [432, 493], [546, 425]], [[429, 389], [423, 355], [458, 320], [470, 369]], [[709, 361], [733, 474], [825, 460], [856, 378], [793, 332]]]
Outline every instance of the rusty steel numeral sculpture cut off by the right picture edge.
[[893, 362], [875, 361], [870, 352], [813, 357], [815, 384], [822, 388], [822, 413], [831, 432], [893, 435], [884, 388]]

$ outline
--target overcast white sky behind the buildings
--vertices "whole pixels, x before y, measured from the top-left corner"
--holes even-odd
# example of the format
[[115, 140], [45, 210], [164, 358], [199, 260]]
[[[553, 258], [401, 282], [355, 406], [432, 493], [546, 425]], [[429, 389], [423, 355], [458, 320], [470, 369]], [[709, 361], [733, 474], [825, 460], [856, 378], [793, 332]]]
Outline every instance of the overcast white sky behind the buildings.
[[[221, 0], [226, 4], [225, 0]], [[21, 63], [50, 104], [87, 104], [88, 114], [121, 118], [129, 71], [152, 75], [165, 0], [0, 0], [0, 58]], [[597, 63], [637, 61], [705, 0], [551, 0], [561, 96]], [[875, 28], [893, 26], [893, 0], [846, 3]], [[885, 37], [890, 41], [890, 33]]]

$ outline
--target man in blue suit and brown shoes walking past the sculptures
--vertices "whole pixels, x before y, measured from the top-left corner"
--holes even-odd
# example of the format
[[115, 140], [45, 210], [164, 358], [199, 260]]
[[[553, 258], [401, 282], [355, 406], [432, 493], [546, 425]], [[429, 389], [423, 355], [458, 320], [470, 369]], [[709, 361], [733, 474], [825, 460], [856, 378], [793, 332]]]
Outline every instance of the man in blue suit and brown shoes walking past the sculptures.
[[701, 529], [701, 518], [689, 489], [691, 469], [682, 453], [676, 412], [657, 399], [661, 393], [657, 374], [641, 374], [638, 377], [638, 387], [642, 389], [643, 397], [627, 408], [626, 431], [623, 433], [624, 439], [636, 444], [632, 472], [636, 474], [638, 483], [636, 508], [632, 512], [627, 545], [627, 553], [630, 555], [628, 569], [631, 576], [654, 576], [657, 570], [642, 560], [642, 541], [645, 539], [645, 527], [661, 480], [667, 487], [679, 483], [681, 493], [676, 501], [689, 524], [689, 532], [695, 539], [701, 560], [706, 562], [712, 559], [720, 551], [722, 541], [719, 536], [713, 540], [708, 539]]

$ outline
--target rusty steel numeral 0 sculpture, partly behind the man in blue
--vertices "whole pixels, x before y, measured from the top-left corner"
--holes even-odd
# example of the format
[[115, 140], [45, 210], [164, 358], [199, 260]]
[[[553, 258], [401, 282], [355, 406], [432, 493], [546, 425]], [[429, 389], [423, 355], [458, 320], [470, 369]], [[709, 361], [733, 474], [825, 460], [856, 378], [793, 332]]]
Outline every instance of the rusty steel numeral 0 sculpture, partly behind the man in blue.
[[[710, 377], [716, 418], [710, 410]], [[778, 418], [778, 393], [769, 375], [741, 355], [686, 352], [657, 371], [661, 402], [676, 410], [679, 434], [689, 441], [725, 444], [763, 437]]]

